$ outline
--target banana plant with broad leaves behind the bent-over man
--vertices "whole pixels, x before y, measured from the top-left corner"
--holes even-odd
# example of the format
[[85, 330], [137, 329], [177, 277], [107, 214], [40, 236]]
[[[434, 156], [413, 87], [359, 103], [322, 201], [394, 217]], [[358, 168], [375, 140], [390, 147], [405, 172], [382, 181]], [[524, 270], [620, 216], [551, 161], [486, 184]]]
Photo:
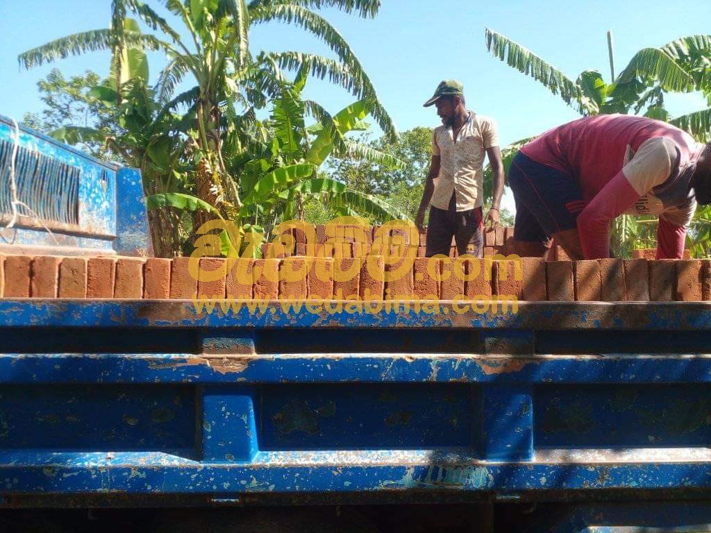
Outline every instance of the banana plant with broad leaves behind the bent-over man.
[[[496, 58], [559, 95], [583, 116], [632, 112], [670, 122], [698, 141], [708, 141], [711, 134], [711, 109], [670, 117], [664, 107], [664, 96], [669, 92], [699, 91], [711, 105], [711, 36], [688, 36], [661, 48], [643, 48], [617, 76], [611, 60], [610, 83], [596, 70], [585, 70], [577, 80], [572, 80], [535, 53], [488, 28], [486, 47]], [[610, 55], [612, 58], [611, 50]], [[518, 141], [502, 153], [507, 152], [513, 158], [524, 143]], [[709, 255], [705, 244], [711, 237], [709, 220], [711, 208], [697, 210], [688, 232], [687, 246], [696, 257]], [[655, 247], [656, 228], [656, 217], [617, 217], [611, 231], [613, 252], [618, 257], [629, 257], [632, 249]]]

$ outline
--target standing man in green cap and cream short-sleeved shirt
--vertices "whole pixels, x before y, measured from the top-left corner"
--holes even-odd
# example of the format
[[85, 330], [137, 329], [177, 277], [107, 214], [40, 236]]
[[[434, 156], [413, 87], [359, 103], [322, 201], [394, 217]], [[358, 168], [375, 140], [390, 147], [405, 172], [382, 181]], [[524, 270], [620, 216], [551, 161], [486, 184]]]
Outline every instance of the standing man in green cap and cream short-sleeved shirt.
[[[483, 256], [483, 161], [488, 156], [493, 169], [493, 199], [486, 223], [498, 225], [503, 194], [503, 161], [498, 147], [496, 123], [466, 109], [464, 87], [444, 80], [424, 107], [437, 106], [442, 126], [432, 136], [432, 163], [424, 185], [415, 224], [422, 228], [427, 206], [427, 251], [425, 255], [449, 256], [454, 237], [459, 255]], [[434, 178], [439, 178], [437, 187]]]

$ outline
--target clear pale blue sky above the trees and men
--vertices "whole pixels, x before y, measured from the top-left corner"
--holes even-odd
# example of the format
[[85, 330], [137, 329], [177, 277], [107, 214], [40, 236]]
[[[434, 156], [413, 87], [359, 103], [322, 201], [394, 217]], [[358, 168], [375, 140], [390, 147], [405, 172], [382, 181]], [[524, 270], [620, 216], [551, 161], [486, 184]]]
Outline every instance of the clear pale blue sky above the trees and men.
[[[158, 0], [145, 0], [161, 7]], [[110, 0], [0, 0], [0, 114], [21, 118], [42, 109], [36, 82], [50, 66], [19, 70], [18, 53], [54, 38], [104, 28]], [[436, 126], [434, 108], [423, 108], [437, 83], [455, 77], [464, 83], [467, 104], [498, 122], [506, 145], [567, 122], [577, 114], [535, 80], [493, 58], [484, 28], [506, 34], [576, 78], [597, 69], [609, 80], [606, 31], [614, 32], [616, 67], [645, 47], [680, 36], [711, 32], [711, 3], [668, 0], [382, 0], [380, 14], [363, 20], [326, 10], [324, 15], [351, 43], [398, 129]], [[301, 50], [328, 54], [319, 41], [296, 28], [269, 23], [254, 28], [252, 50]], [[151, 55], [151, 73], [164, 64]], [[106, 74], [107, 53], [91, 53], [55, 63], [71, 75], [92, 69]], [[333, 112], [353, 97], [326, 82], [309, 82], [308, 97]], [[696, 95], [668, 100], [672, 114], [704, 107]]]

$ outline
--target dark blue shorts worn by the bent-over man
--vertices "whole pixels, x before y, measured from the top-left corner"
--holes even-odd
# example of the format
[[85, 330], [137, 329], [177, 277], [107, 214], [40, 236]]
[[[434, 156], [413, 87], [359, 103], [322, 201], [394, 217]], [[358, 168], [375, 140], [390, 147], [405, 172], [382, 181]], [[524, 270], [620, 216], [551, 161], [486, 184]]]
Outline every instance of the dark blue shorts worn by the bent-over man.
[[518, 152], [511, 161], [508, 185], [516, 203], [514, 239], [545, 242], [557, 232], [577, 228], [585, 203], [574, 177]]

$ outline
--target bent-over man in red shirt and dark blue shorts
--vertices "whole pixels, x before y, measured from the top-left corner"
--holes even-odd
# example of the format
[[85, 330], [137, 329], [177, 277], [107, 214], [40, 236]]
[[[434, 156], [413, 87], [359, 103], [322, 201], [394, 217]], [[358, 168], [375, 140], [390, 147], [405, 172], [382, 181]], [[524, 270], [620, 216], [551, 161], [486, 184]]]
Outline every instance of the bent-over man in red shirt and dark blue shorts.
[[609, 257], [610, 222], [658, 215], [658, 259], [683, 257], [697, 203], [711, 203], [711, 144], [631, 115], [585, 117], [546, 131], [513, 158], [519, 255], [554, 237], [572, 259]]

